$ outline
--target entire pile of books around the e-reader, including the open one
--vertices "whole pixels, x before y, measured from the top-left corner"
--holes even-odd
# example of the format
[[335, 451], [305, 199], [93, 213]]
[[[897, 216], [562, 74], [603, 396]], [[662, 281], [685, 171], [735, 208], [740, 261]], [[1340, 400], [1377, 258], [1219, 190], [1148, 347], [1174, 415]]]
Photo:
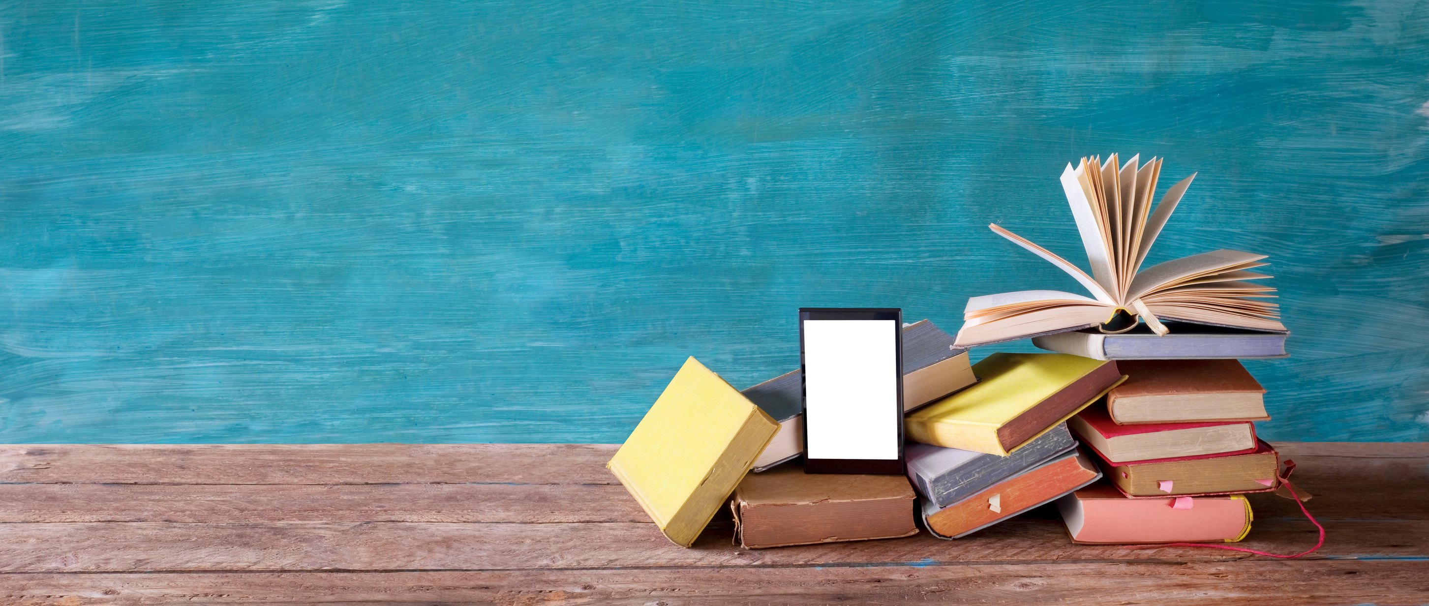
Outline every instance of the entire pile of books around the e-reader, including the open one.
[[[1233, 542], [1248, 492], [1276, 490], [1265, 389], [1238, 362], [1285, 354], [1260, 254], [1215, 250], [1142, 270], [1192, 177], [1152, 209], [1160, 162], [1083, 159], [1062, 176], [1092, 273], [1002, 227], [1092, 297], [972, 297], [956, 339], [903, 329], [907, 476], [806, 475], [797, 370], [737, 390], [693, 357], [607, 465], [672, 542], [723, 507], [746, 549], [957, 539], [1056, 503], [1073, 542]], [[967, 347], [1032, 339], [1055, 353]], [[919, 525], [922, 522], [922, 525]]]

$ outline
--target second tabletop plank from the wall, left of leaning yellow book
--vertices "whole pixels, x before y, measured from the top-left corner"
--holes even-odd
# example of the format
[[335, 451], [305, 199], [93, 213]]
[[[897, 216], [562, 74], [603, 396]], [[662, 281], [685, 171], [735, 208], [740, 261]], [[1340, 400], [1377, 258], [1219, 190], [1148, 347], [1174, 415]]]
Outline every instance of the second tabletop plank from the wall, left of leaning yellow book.
[[649, 520], [619, 485], [0, 485], [0, 523]]

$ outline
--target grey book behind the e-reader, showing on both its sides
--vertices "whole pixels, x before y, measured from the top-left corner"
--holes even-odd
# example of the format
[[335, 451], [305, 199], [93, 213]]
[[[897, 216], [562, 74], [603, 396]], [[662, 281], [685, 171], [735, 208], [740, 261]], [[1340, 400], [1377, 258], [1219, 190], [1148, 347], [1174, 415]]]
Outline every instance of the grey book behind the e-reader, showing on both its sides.
[[[967, 350], [932, 322], [903, 326], [903, 410], [913, 410], [973, 384]], [[803, 374], [793, 370], [743, 392], [745, 397], [779, 422], [779, 432], [755, 460], [753, 470], [803, 454]]]

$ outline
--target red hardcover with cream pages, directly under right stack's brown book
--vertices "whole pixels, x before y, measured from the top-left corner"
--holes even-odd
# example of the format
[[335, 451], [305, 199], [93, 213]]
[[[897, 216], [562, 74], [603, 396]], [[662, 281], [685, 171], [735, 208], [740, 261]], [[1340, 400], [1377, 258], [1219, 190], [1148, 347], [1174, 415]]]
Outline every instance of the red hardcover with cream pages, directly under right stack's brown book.
[[1152, 463], [1255, 452], [1248, 422], [1116, 424], [1103, 403], [1067, 420], [1067, 427], [1107, 463]]

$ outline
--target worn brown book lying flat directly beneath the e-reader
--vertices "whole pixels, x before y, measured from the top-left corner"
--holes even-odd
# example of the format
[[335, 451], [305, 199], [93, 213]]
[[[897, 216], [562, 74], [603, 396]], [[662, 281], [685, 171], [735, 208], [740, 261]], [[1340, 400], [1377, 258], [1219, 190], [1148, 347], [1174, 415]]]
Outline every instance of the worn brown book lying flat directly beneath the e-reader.
[[912, 536], [913, 499], [903, 476], [772, 469], [745, 476], [735, 489], [735, 540], [762, 549]]

